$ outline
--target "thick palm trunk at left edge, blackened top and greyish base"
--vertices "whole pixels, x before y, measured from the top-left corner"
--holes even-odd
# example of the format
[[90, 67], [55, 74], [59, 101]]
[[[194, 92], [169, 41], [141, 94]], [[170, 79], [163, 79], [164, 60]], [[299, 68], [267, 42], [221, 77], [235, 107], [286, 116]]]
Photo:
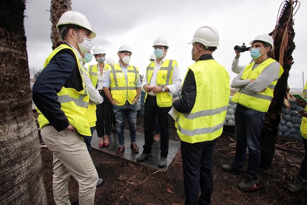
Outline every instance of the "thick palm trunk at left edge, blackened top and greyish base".
[[25, 0], [1, 2], [1, 205], [47, 204], [41, 148], [32, 113], [24, 11]]

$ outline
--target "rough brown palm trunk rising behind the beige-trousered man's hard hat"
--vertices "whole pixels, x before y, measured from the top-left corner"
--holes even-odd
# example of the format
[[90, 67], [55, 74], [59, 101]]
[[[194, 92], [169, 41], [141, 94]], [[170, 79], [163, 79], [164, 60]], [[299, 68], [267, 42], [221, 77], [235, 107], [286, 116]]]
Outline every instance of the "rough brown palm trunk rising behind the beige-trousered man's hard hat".
[[72, 10], [72, 1], [71, 0], [51, 0], [50, 6], [50, 21], [51, 25], [51, 34], [50, 38], [52, 41], [52, 50], [62, 44], [62, 38], [60, 38], [59, 30], [56, 28], [57, 22], [59, 22], [60, 17], [66, 11]]

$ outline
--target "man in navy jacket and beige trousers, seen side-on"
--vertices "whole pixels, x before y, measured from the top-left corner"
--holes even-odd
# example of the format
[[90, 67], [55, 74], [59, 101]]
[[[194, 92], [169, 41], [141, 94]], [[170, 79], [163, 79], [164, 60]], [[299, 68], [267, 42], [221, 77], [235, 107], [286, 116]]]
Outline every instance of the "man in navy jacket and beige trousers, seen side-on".
[[70, 204], [68, 180], [79, 184], [79, 204], [94, 204], [98, 174], [83, 138], [91, 136], [86, 111], [89, 103], [84, 86], [81, 53], [92, 48], [92, 31], [86, 17], [65, 12], [56, 27], [63, 44], [52, 51], [33, 86], [41, 136], [53, 153], [53, 197], [56, 204]]

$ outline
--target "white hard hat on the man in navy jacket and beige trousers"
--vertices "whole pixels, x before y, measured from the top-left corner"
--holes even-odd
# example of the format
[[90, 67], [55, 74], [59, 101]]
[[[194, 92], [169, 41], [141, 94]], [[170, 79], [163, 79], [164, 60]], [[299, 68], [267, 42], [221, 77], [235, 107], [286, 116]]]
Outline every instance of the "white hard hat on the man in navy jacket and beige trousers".
[[62, 14], [59, 22], [56, 24], [56, 28], [59, 29], [59, 26], [68, 25], [68, 24], [74, 24], [77, 26], [81, 26], [87, 30], [90, 30], [91, 38], [96, 37], [96, 34], [92, 30], [90, 23], [87, 21], [87, 18], [78, 11], [66, 11], [64, 14]]

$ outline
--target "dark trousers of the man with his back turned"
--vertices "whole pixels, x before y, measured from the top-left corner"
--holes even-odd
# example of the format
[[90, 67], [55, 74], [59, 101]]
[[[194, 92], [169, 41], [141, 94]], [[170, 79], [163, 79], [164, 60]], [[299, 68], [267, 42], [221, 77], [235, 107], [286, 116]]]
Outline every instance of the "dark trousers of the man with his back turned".
[[211, 204], [213, 191], [213, 151], [216, 140], [188, 143], [181, 140], [185, 204]]

